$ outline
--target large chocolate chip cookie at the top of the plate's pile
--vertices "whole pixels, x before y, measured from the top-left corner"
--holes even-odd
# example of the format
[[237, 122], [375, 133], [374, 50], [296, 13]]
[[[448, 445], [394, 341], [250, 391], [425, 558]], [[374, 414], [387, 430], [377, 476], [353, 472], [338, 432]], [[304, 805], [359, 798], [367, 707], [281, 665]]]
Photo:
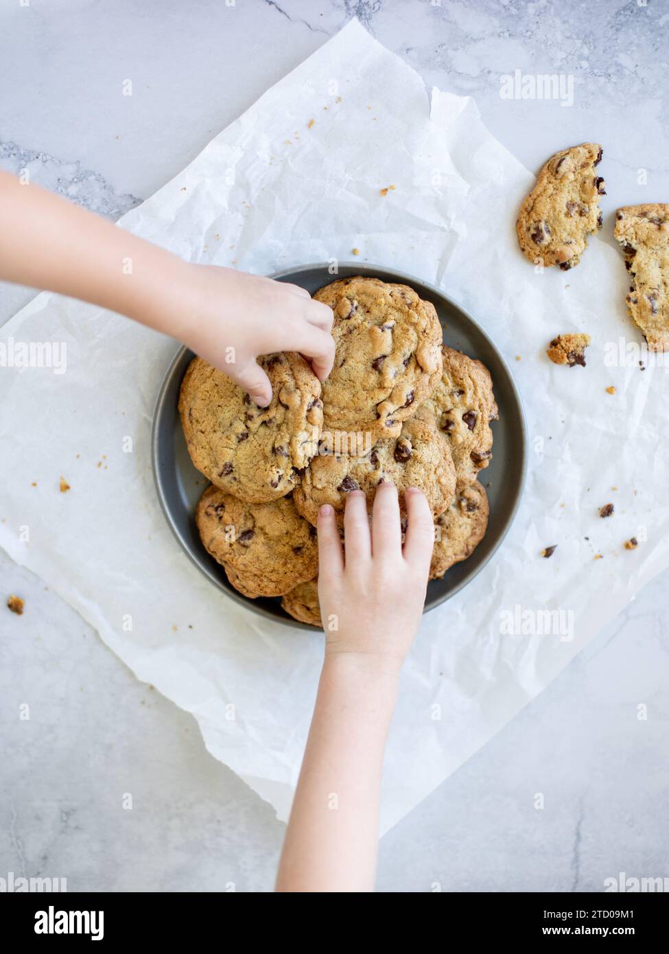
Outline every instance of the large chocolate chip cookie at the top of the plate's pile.
[[323, 384], [324, 429], [397, 437], [441, 373], [434, 306], [408, 285], [333, 281], [314, 298], [332, 308], [334, 367]]

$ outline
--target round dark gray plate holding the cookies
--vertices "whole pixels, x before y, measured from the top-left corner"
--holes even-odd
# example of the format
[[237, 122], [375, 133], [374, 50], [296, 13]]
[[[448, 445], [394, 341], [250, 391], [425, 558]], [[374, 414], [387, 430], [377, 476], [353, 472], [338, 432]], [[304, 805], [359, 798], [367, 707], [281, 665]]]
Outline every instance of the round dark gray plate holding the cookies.
[[[491, 465], [481, 471], [481, 482], [488, 491], [491, 505], [488, 532], [468, 560], [455, 564], [441, 580], [428, 586], [426, 611], [462, 590], [490, 560], [512, 524], [520, 501], [525, 477], [527, 434], [525, 415], [511, 371], [483, 328], [448, 295], [425, 281], [414, 279], [393, 269], [350, 262], [339, 265], [337, 275], [330, 275], [326, 264], [303, 265], [278, 272], [272, 278], [302, 285], [313, 294], [318, 288], [337, 278], [370, 275], [385, 281], [411, 285], [421, 298], [431, 301], [444, 328], [444, 342], [480, 359], [491, 372], [494, 395], [499, 406], [499, 421], [492, 424], [494, 445]], [[282, 611], [281, 598], [247, 599], [227, 581], [222, 567], [204, 550], [195, 524], [195, 508], [207, 486], [206, 479], [193, 467], [178, 417], [178, 391], [181, 379], [193, 358], [181, 348], [170, 365], [158, 394], [154, 416], [152, 454], [154, 476], [160, 504], [178, 542], [199, 570], [236, 602], [251, 612], [277, 622], [311, 630]]]

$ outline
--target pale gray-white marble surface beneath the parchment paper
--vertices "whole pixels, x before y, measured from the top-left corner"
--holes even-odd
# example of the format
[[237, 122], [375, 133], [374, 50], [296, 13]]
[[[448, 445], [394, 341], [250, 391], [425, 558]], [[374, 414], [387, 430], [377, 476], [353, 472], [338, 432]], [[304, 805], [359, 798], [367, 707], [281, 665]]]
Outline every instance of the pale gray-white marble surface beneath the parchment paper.
[[[669, 199], [659, 0], [2, 0], [0, 165], [28, 165], [35, 181], [118, 218], [354, 14], [428, 87], [473, 95], [529, 168], [595, 139], [610, 195]], [[516, 69], [574, 75], [574, 106], [502, 100], [499, 76]], [[0, 322], [30, 297], [0, 286]], [[642, 591], [387, 834], [380, 890], [601, 890], [620, 871], [669, 876], [668, 582]], [[283, 832], [269, 806], [206, 754], [190, 716], [0, 552], [3, 602], [10, 592], [26, 612], [0, 606], [0, 877], [269, 890]], [[24, 703], [30, 720], [17, 716]]]

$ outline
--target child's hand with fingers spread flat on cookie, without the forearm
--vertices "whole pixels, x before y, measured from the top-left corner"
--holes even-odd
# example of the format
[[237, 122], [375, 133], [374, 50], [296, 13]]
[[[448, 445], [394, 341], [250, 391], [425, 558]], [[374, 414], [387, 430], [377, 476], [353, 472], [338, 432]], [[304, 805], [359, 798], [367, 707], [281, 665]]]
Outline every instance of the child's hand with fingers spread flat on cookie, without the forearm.
[[405, 493], [408, 526], [404, 551], [397, 487], [377, 487], [369, 530], [365, 494], [346, 497], [345, 554], [331, 507], [318, 519], [319, 598], [325, 656], [364, 653], [400, 665], [423, 612], [434, 524], [423, 493]]

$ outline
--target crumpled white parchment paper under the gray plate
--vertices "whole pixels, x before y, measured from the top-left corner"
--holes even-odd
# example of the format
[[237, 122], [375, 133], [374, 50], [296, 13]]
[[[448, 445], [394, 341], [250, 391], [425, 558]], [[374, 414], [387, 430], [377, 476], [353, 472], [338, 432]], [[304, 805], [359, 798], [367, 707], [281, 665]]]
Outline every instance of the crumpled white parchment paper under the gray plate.
[[[383, 830], [669, 563], [669, 378], [641, 371], [634, 351], [621, 363], [620, 342], [640, 338], [605, 241], [566, 274], [537, 274], [520, 255], [514, 220], [532, 184], [470, 98], [433, 90], [430, 107], [419, 76], [352, 22], [121, 220], [184, 258], [261, 274], [358, 248], [442, 285], [512, 364], [530, 428], [526, 493], [487, 568], [423, 619], [388, 741]], [[575, 330], [593, 336], [587, 368], [555, 367], [547, 343]], [[4, 327], [10, 339], [65, 342], [67, 370], [0, 367], [0, 544], [193, 713], [212, 755], [285, 819], [322, 639], [226, 599], [167, 528], [150, 431], [175, 342], [51, 294]], [[624, 550], [632, 536], [638, 550]]]

